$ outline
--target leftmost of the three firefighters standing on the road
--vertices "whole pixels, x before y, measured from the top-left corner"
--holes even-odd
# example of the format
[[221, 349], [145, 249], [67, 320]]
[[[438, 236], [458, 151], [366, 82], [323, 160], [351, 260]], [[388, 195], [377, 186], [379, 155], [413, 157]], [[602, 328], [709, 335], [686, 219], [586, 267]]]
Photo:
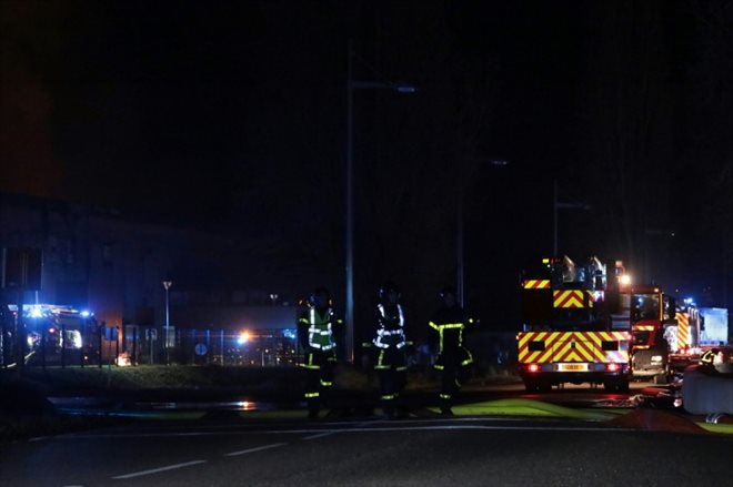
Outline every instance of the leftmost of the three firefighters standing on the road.
[[317, 288], [308, 298], [308, 310], [298, 319], [298, 338], [303, 347], [307, 371], [305, 400], [308, 417], [317, 418], [333, 386], [337, 343], [343, 322], [335, 317], [331, 295], [325, 287]]

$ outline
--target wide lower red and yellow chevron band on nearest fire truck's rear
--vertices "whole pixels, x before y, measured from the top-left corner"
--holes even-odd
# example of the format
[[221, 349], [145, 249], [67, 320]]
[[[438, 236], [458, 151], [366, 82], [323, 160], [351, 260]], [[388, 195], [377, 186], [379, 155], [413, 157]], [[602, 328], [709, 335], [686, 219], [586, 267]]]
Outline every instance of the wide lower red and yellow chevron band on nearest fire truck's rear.
[[[519, 334], [520, 364], [569, 362], [627, 363], [626, 332], [523, 332]], [[603, 349], [603, 343], [616, 342], [616, 349]]]

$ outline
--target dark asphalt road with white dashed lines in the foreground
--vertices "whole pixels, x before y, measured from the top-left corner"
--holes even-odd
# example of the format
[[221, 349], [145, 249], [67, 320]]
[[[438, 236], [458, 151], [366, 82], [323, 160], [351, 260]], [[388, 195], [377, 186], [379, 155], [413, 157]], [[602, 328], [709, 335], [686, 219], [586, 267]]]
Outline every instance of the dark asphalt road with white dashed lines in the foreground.
[[570, 420], [137, 424], [0, 446], [0, 486], [730, 485], [733, 438]]

